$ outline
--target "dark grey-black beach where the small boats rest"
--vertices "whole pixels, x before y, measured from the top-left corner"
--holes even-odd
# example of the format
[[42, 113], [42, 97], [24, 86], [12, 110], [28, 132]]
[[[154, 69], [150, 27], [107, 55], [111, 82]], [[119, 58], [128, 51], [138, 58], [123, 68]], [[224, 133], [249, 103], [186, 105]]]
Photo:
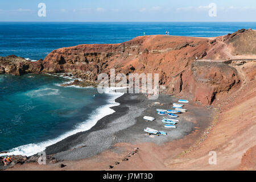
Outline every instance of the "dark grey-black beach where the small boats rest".
[[[156, 109], [172, 109], [172, 103], [177, 102], [174, 96], [159, 95], [157, 100], [148, 100], [144, 94], [123, 94], [115, 102], [120, 103], [112, 109], [115, 113], [100, 119], [92, 129], [72, 135], [46, 148], [47, 155], [53, 155], [59, 160], [80, 160], [113, 148], [115, 143], [144, 143], [163, 144], [183, 138], [196, 128], [205, 129], [212, 121], [213, 111], [203, 107], [185, 104], [187, 113], [179, 114], [176, 129], [164, 128], [163, 116]], [[163, 104], [154, 105], [154, 102]], [[144, 115], [155, 118], [146, 122]], [[165, 131], [167, 135], [148, 136], [143, 129]], [[201, 131], [203, 131], [201, 130]]]

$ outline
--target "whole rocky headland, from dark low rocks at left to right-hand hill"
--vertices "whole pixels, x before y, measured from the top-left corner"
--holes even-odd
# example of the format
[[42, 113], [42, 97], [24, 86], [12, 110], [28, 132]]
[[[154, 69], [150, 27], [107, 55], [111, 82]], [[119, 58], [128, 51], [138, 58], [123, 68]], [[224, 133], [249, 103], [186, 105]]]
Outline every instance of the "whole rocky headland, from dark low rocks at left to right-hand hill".
[[[113, 68], [115, 73], [125, 75], [159, 73], [159, 84], [167, 87], [167, 94], [212, 104], [215, 98], [238, 89], [240, 78], [236, 69], [227, 64], [199, 63], [196, 58], [241, 59], [244, 54], [255, 57], [255, 38], [254, 30], [240, 30], [217, 38], [139, 36], [121, 44], [84, 44], [56, 49], [35, 63], [19, 58], [7, 66], [6, 61], [0, 61], [0, 71], [14, 75], [69, 72], [93, 81], [98, 74], [109, 74]], [[240, 43], [250, 48], [241, 50]]]

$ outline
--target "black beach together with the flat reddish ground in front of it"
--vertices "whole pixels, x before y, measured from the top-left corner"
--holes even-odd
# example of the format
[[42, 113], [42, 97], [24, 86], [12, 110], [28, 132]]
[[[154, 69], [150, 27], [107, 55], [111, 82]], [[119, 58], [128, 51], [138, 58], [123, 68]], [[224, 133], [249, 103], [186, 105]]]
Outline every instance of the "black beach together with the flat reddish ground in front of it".
[[[170, 108], [172, 102], [178, 99], [163, 94], [158, 100], [147, 100], [143, 94], [125, 93], [115, 100], [120, 105], [111, 107], [115, 112], [100, 119], [90, 130], [47, 147], [46, 165], [39, 165], [38, 158], [34, 160], [31, 157], [24, 164], [16, 164], [9, 169], [63, 170], [60, 164], [65, 164], [65, 170], [108, 170], [110, 165], [115, 166], [118, 162], [114, 170], [140, 170], [142, 166], [144, 170], [168, 170], [166, 162], [175, 160], [176, 156], [192, 146], [209, 127], [214, 115], [213, 109], [186, 104], [187, 113], [176, 118], [180, 120], [177, 128], [166, 129], [162, 116], [155, 110]], [[152, 105], [157, 101], [163, 105]], [[146, 122], [144, 115], [156, 120]], [[148, 136], [143, 131], [146, 127], [166, 131], [167, 135]], [[152, 166], [152, 163], [158, 164], [158, 167]]]

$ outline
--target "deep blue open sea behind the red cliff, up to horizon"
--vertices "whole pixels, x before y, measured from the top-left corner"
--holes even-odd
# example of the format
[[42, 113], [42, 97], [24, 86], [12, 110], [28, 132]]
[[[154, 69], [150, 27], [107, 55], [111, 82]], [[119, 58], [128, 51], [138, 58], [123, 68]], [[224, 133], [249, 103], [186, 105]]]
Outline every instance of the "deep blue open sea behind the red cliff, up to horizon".
[[44, 59], [61, 47], [78, 44], [122, 43], [137, 36], [165, 34], [221, 36], [241, 28], [256, 29], [250, 23], [3, 23], [0, 22], [0, 56], [16, 55]]

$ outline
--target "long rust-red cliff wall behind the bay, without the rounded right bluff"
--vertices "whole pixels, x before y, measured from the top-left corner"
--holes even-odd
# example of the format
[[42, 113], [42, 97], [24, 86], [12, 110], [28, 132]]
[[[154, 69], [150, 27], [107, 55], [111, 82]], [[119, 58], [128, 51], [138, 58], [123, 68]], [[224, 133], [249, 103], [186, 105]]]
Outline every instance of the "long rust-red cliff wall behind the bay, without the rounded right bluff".
[[[94, 44], [60, 48], [44, 59], [42, 72], [159, 73], [160, 84], [207, 53], [208, 39], [180, 36], [140, 36], [121, 44]], [[97, 76], [93, 77], [94, 79]]]

